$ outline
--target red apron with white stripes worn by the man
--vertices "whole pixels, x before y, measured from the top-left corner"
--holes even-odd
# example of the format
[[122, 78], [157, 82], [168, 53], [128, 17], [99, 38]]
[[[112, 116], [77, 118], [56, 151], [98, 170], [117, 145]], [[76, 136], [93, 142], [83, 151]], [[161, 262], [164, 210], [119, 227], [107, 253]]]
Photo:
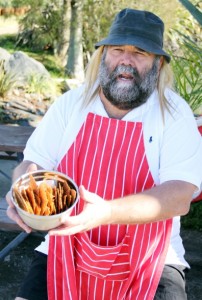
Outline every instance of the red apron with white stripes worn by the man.
[[[92, 113], [58, 170], [104, 199], [154, 186], [145, 155], [142, 123]], [[81, 199], [74, 214], [82, 208]], [[48, 299], [153, 299], [171, 225], [171, 220], [106, 225], [74, 236], [51, 236]]]

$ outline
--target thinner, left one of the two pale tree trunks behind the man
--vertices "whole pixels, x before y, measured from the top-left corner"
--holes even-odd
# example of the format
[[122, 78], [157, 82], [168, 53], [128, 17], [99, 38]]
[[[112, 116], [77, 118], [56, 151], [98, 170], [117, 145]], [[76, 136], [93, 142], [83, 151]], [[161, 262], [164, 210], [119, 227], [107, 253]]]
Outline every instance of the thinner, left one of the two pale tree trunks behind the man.
[[70, 0], [63, 0], [60, 37], [59, 37], [59, 45], [57, 49], [57, 55], [59, 61], [61, 62], [62, 67], [64, 67], [67, 62], [67, 51], [68, 51], [69, 39], [70, 39], [70, 18], [71, 18]]

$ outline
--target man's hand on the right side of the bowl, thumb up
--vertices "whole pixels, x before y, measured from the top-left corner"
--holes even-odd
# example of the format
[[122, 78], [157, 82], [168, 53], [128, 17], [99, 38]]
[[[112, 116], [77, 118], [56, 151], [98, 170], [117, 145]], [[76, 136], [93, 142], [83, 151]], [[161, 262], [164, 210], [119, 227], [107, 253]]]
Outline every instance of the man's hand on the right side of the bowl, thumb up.
[[110, 223], [111, 201], [103, 200], [98, 195], [87, 191], [84, 186], [79, 187], [79, 193], [85, 201], [83, 211], [77, 216], [62, 219], [63, 225], [51, 230], [50, 235], [71, 235]]

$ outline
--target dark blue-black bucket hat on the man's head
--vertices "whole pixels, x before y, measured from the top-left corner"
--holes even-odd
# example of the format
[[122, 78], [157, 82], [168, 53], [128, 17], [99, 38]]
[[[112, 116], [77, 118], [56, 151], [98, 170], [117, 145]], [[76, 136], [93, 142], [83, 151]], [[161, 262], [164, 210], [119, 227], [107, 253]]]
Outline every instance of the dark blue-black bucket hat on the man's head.
[[163, 50], [163, 33], [164, 23], [158, 16], [126, 8], [116, 15], [108, 37], [95, 44], [95, 48], [101, 45], [133, 45], [163, 55], [170, 62], [170, 55]]

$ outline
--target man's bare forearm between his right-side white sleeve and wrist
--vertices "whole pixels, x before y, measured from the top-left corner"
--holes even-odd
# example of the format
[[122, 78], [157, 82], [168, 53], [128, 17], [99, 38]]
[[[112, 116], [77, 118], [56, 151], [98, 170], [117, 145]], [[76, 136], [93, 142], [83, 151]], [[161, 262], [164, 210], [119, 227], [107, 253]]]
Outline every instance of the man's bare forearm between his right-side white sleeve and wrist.
[[111, 201], [111, 222], [143, 224], [185, 215], [196, 187], [183, 181], [169, 181], [137, 195]]

